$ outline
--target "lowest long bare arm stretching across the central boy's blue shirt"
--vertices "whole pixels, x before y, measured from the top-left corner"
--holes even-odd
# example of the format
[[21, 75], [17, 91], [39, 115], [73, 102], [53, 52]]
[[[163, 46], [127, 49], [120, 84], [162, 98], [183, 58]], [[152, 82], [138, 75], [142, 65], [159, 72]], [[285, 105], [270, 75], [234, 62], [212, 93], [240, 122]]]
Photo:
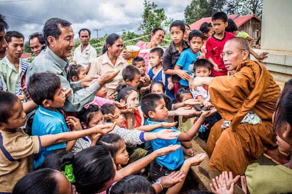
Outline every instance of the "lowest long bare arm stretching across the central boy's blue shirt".
[[146, 165], [148, 165], [151, 161], [153, 161], [157, 157], [174, 152], [180, 147], [181, 147], [180, 145], [170, 145], [170, 146], [163, 147], [163, 148], [153, 151], [151, 154], [135, 162], [130, 163], [128, 166], [122, 168], [121, 170], [116, 171], [116, 176], [113, 181], [118, 181], [128, 175], [138, 173], [141, 169], [143, 169]]

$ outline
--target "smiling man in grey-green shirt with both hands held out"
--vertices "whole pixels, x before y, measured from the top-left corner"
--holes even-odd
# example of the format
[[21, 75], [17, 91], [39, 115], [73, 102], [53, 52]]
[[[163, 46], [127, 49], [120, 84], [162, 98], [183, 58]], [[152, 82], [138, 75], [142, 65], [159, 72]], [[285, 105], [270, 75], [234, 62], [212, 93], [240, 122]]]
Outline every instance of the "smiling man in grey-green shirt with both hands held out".
[[[67, 90], [67, 99], [62, 109], [67, 112], [77, 112], [85, 104], [91, 102], [101, 86], [112, 81], [119, 71], [109, 71], [99, 78], [87, 76], [81, 81], [70, 83], [67, 57], [71, 56], [74, 46], [74, 32], [71, 25], [71, 22], [60, 18], [51, 18], [46, 21], [43, 35], [47, 48], [27, 68], [25, 83], [28, 83], [34, 73], [54, 72], [60, 77], [62, 87]], [[98, 80], [92, 83], [92, 80], [97, 78]], [[46, 83], [44, 83], [44, 87], [46, 87]], [[82, 89], [73, 93], [72, 88], [77, 87], [82, 87]]]

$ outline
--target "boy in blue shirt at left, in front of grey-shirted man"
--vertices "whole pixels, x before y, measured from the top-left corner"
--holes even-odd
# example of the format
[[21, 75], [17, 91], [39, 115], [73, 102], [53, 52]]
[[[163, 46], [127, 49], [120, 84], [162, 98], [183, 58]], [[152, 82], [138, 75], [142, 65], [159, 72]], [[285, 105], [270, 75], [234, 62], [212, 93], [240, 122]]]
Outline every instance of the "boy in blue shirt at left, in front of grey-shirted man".
[[[36, 73], [30, 77], [27, 89], [34, 102], [39, 105], [33, 121], [32, 134], [40, 136], [68, 132], [63, 115], [56, 110], [64, 106], [66, 99], [60, 78], [55, 73]], [[81, 130], [81, 126], [78, 127], [75, 129]], [[63, 142], [42, 147], [39, 153], [34, 154], [34, 169], [40, 166], [48, 155], [64, 148], [70, 151], [75, 142], [76, 140], [73, 140], [67, 144]]]

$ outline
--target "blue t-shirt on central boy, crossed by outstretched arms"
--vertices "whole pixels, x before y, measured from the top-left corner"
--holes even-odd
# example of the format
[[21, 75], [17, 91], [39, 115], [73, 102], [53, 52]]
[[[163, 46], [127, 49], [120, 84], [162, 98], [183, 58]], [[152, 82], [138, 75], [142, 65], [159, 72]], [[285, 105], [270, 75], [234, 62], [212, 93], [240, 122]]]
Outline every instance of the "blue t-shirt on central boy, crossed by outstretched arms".
[[[150, 121], [149, 118], [147, 119], [147, 121], [149, 125], [161, 123], [161, 122]], [[164, 122], [167, 122], [167, 121], [164, 121]], [[150, 132], [158, 132], [162, 129], [165, 129], [165, 128], [157, 128], [157, 129], [151, 130]], [[174, 128], [169, 128], [169, 129], [173, 129], [173, 132], [180, 132], [179, 130], [176, 130]], [[179, 137], [172, 140], [154, 139], [154, 140], [151, 140], [151, 145], [153, 147], [153, 150], [157, 150], [159, 148], [167, 147], [170, 145], [181, 145], [181, 143], [178, 142], [178, 138]], [[156, 158], [156, 162], [160, 166], [166, 167], [168, 170], [175, 170], [178, 167], [180, 167], [184, 162], [183, 149], [179, 148], [175, 150], [174, 152], [171, 152], [170, 154], [159, 156]]]

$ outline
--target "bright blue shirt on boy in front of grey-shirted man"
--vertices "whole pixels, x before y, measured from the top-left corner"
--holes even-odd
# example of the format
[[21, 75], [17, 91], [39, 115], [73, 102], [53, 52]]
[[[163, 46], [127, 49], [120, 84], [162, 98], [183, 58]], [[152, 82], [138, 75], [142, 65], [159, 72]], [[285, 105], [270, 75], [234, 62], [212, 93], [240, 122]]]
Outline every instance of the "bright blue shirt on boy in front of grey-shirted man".
[[[41, 106], [37, 108], [32, 126], [33, 135], [41, 136], [67, 131], [69, 130], [67, 128], [66, 121], [60, 112], [57, 110], [49, 111]], [[39, 153], [34, 154], [34, 169], [40, 166], [47, 156], [53, 154], [55, 149], [62, 149], [65, 147], [66, 142], [42, 147]]]

